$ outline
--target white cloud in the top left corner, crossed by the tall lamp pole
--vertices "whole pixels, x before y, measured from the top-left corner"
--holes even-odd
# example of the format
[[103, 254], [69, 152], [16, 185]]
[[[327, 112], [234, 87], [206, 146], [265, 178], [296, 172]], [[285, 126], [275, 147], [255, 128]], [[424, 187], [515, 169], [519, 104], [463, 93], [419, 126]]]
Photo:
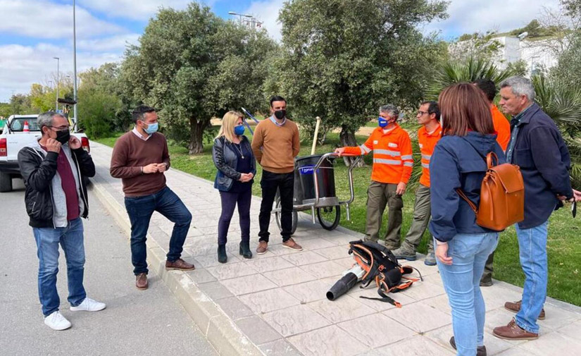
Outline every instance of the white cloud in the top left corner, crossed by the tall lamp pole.
[[[0, 33], [42, 39], [73, 37], [73, 6], [46, 0], [0, 0]], [[99, 20], [76, 7], [77, 38], [125, 32], [123, 27]]]

